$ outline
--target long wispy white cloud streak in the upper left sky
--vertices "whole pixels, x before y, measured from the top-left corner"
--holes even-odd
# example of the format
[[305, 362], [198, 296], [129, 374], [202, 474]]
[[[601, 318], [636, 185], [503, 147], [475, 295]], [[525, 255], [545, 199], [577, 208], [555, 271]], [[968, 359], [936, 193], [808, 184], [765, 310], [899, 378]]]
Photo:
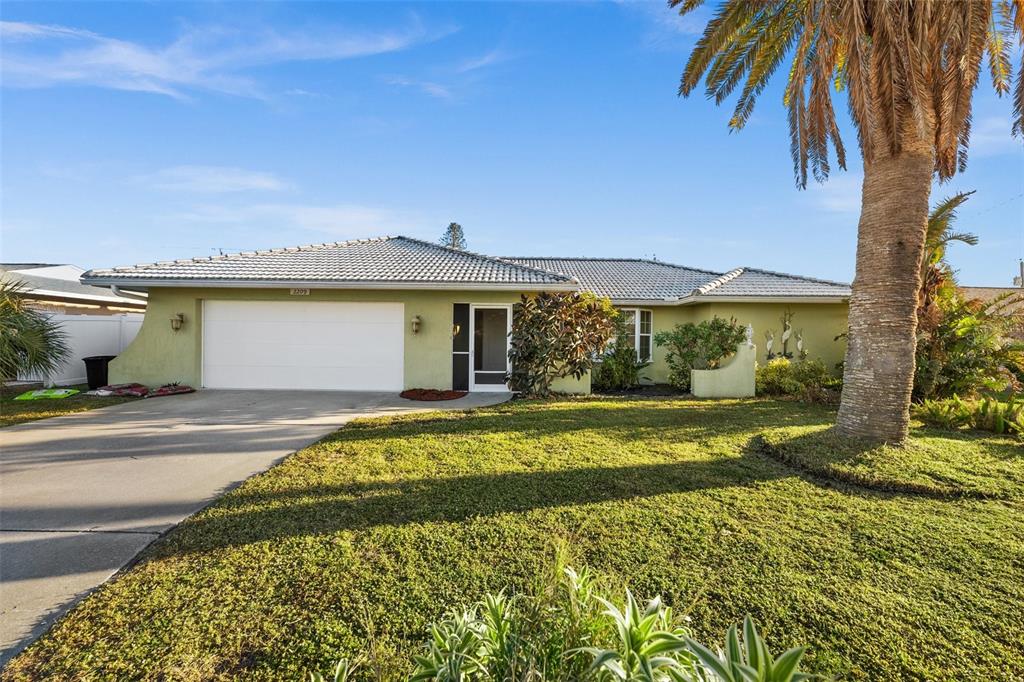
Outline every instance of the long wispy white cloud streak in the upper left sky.
[[0, 22], [0, 39], [7, 86], [78, 84], [178, 98], [187, 98], [194, 90], [262, 97], [246, 70], [394, 52], [454, 30], [428, 30], [415, 17], [386, 31], [321, 27], [286, 33], [205, 27], [190, 29], [166, 46], [148, 46], [76, 28]]

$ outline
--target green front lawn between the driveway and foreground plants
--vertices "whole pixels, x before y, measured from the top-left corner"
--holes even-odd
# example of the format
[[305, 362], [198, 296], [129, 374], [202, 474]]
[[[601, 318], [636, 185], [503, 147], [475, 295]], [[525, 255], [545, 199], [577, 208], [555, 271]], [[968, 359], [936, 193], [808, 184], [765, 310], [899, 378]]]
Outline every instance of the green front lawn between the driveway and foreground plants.
[[[833, 417], [654, 398], [352, 424], [189, 518], [6, 672], [298, 680], [361, 654], [364, 675], [398, 679], [432, 620], [527, 585], [562, 545], [664, 595], [698, 638], [753, 614], [773, 648], [807, 643], [813, 672], [1024, 677], [1024, 449], [919, 428], [905, 476], [882, 451], [827, 454], [823, 473], [758, 452], [762, 431], [778, 443]], [[844, 467], [998, 495], [827, 477]]]

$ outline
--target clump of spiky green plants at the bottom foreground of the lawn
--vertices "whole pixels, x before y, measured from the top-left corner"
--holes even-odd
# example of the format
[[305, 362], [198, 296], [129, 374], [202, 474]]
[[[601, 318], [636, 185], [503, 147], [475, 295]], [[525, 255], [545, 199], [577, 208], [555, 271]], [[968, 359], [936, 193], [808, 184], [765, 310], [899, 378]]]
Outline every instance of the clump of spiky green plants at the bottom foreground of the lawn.
[[[488, 594], [430, 628], [411, 682], [568, 680], [636, 682], [799, 682], [804, 647], [774, 657], [749, 616], [742, 636], [729, 628], [718, 653], [690, 637], [686, 620], [655, 597], [638, 603], [629, 590], [620, 608], [598, 595], [584, 569], [553, 572], [540, 589]], [[352, 667], [332, 671], [347, 680]], [[310, 679], [325, 677], [314, 673]]]

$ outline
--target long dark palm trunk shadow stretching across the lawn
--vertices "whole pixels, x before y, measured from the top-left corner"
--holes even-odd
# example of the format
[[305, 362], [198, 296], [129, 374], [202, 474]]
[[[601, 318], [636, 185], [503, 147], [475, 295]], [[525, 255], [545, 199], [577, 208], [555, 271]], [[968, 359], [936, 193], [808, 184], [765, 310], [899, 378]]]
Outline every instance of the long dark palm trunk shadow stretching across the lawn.
[[154, 547], [154, 553], [171, 556], [382, 525], [461, 522], [561, 506], [753, 486], [793, 475], [785, 467], [744, 457], [312, 485], [268, 493], [242, 488], [185, 520]]

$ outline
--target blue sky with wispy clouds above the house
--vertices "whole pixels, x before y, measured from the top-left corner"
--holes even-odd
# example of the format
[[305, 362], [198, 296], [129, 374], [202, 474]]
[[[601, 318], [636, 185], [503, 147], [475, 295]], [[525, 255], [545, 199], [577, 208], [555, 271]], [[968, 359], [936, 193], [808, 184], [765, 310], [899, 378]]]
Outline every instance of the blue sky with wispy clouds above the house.
[[[4, 4], [2, 257], [101, 267], [456, 220], [494, 255], [853, 275], [860, 163], [794, 186], [779, 88], [746, 129], [676, 96], [660, 3]], [[784, 74], [783, 74], [784, 76]], [[855, 138], [849, 126], [846, 141]], [[1006, 286], [1024, 147], [983, 84], [950, 258]]]

